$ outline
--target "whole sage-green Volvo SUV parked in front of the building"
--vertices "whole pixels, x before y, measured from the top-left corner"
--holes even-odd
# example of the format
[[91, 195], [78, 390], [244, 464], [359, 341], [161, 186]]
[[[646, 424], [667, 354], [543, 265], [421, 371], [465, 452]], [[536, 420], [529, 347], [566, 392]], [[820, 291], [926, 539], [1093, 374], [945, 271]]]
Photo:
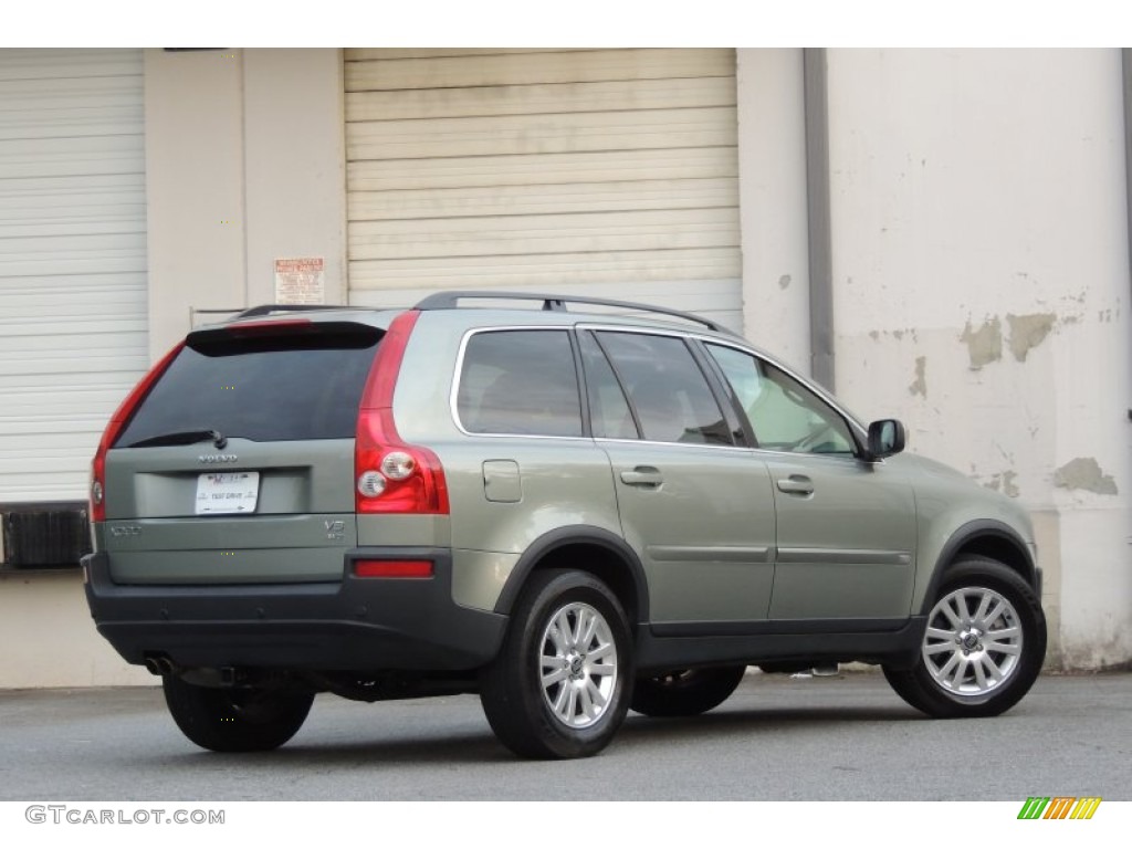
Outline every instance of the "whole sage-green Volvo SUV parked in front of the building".
[[320, 692], [478, 693], [514, 752], [584, 756], [751, 664], [1001, 713], [1046, 649], [1030, 522], [903, 443], [655, 307], [259, 307], [108, 426], [87, 597], [215, 751], [284, 744]]

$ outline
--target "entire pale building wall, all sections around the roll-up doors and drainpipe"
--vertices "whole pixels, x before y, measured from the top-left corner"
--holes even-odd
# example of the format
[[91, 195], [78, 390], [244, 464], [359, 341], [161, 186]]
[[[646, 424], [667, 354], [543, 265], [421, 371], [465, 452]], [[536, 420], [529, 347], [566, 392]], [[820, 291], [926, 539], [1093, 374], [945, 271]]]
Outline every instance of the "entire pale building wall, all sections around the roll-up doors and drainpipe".
[[[829, 54], [839, 394], [1037, 518], [1054, 659], [1132, 659], [1117, 51]], [[738, 51], [744, 318], [808, 371], [801, 53]], [[321, 256], [345, 298], [341, 57], [146, 55], [151, 355]], [[74, 575], [0, 577], [0, 686], [148, 683]], [[34, 638], [28, 638], [35, 634]]]

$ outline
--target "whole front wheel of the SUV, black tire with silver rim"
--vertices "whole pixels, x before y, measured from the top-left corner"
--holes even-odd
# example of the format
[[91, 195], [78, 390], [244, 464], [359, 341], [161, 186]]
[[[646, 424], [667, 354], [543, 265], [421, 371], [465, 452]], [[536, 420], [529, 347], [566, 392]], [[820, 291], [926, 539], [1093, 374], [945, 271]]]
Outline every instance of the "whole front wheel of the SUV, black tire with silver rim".
[[929, 717], [996, 717], [1030, 691], [1045, 657], [1046, 617], [1034, 590], [1007, 566], [972, 556], [944, 574], [916, 666], [885, 667], [884, 677]]

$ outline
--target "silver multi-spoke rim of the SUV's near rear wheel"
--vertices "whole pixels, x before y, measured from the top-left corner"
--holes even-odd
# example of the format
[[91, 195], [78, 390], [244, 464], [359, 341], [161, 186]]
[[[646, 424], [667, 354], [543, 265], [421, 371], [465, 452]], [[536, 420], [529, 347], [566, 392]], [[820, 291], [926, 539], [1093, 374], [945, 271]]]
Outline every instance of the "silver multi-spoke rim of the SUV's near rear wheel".
[[569, 728], [589, 728], [614, 701], [617, 645], [597, 609], [574, 601], [559, 608], [542, 632], [539, 675], [542, 697]]

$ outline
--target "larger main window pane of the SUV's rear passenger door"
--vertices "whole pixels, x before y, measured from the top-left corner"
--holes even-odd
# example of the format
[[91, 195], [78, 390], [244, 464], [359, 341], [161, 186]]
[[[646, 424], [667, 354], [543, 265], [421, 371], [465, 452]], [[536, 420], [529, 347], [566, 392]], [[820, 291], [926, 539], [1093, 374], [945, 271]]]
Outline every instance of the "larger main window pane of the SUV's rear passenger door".
[[734, 445], [707, 380], [683, 340], [612, 332], [599, 332], [597, 337], [628, 393], [644, 439]]

